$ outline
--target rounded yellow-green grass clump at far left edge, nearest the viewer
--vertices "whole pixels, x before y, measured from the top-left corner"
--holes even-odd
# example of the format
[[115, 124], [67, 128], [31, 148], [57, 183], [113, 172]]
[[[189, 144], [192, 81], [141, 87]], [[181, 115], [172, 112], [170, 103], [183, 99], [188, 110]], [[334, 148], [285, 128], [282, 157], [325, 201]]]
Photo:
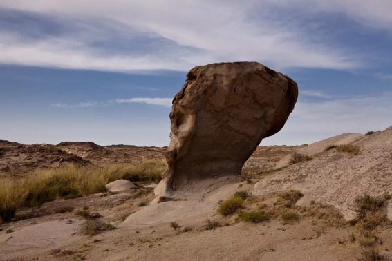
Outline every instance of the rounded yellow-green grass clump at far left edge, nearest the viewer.
[[0, 218], [10, 222], [17, 209], [24, 204], [28, 190], [21, 182], [2, 180], [0, 182]]

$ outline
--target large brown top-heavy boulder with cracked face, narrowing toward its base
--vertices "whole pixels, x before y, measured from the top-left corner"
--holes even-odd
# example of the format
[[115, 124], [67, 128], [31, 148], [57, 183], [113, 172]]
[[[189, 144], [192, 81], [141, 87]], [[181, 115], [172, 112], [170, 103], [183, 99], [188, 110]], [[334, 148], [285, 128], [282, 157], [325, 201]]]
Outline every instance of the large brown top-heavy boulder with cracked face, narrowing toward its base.
[[240, 175], [261, 140], [283, 128], [297, 97], [295, 81], [256, 62], [190, 70], [173, 99], [168, 168], [156, 195], [169, 197], [207, 177]]

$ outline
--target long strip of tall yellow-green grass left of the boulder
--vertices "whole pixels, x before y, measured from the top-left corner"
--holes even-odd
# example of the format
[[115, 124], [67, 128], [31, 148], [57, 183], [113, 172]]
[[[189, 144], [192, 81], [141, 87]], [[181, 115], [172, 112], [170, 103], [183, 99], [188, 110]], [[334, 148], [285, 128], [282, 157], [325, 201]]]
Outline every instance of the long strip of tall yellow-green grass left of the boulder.
[[[165, 162], [157, 160], [103, 167], [69, 164], [19, 181], [3, 180], [0, 184], [0, 217], [8, 222], [22, 205], [39, 206], [58, 198], [71, 199], [102, 193], [106, 191], [106, 184], [114, 180], [158, 182], [165, 168]], [[141, 194], [137, 195], [139, 197]]]

